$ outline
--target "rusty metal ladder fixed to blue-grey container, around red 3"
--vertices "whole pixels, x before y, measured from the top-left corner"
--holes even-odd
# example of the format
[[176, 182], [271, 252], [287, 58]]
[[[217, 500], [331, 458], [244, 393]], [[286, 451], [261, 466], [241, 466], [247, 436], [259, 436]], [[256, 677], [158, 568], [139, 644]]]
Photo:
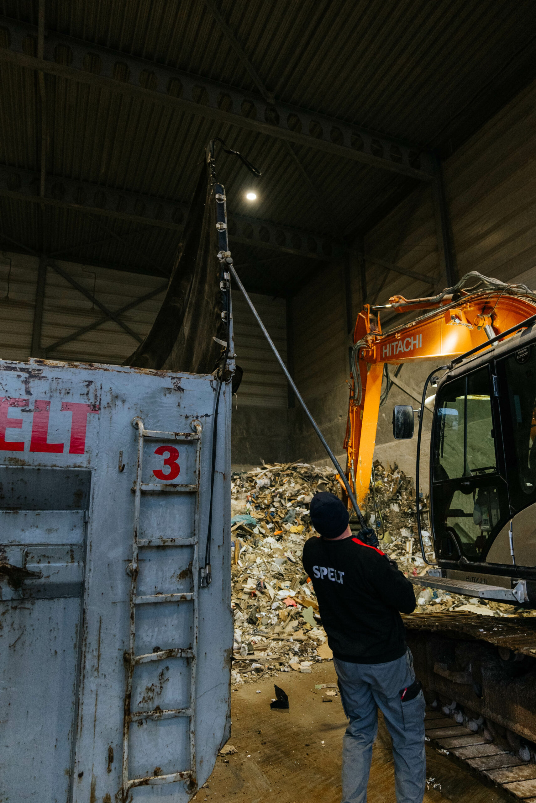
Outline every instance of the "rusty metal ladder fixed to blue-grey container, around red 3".
[[[146, 430], [141, 418], [134, 418], [132, 426], [138, 430], [138, 457], [136, 466], [136, 483], [134, 486], [134, 533], [132, 540], [132, 562], [128, 565], [128, 573], [131, 577], [129, 607], [130, 607], [130, 638], [128, 652], [125, 652], [125, 664], [127, 667], [127, 683], [124, 704], [124, 724], [123, 724], [123, 772], [121, 792], [123, 801], [127, 801], [128, 793], [136, 786], [148, 786], [157, 784], [171, 784], [175, 781], [189, 781], [189, 790], [193, 791], [196, 787], [196, 754], [195, 754], [195, 703], [196, 703], [196, 659], [197, 659], [197, 619], [198, 619], [198, 582], [199, 557], [198, 557], [198, 524], [199, 524], [199, 483], [201, 471], [201, 422], [193, 421], [193, 432], [159, 432], [156, 430]], [[196, 442], [195, 452], [195, 483], [143, 483], [142, 465], [144, 456], [144, 442], [146, 438], [159, 441], [178, 441]], [[140, 501], [144, 493], [190, 493], [197, 495], [197, 503], [193, 516], [193, 537], [191, 538], [160, 538], [140, 539]], [[189, 593], [154, 593], [150, 596], [139, 597], [137, 594], [138, 578], [138, 550], [140, 547], [175, 547], [180, 549], [185, 546], [193, 546], [192, 560], [192, 591]], [[179, 603], [191, 601], [193, 604], [193, 626], [192, 626], [192, 646], [177, 646], [169, 650], [136, 655], [136, 608], [138, 605], [148, 603], [174, 602]], [[159, 661], [162, 658], [189, 658], [190, 661], [190, 694], [188, 708], [171, 708], [161, 710], [156, 708], [152, 711], [132, 711], [132, 683], [135, 667], [140, 663]], [[168, 775], [147, 776], [140, 778], [128, 777], [128, 741], [130, 736], [130, 726], [136, 719], [171, 719], [173, 717], [188, 717], [189, 719], [189, 763], [190, 768], [173, 772]]]

